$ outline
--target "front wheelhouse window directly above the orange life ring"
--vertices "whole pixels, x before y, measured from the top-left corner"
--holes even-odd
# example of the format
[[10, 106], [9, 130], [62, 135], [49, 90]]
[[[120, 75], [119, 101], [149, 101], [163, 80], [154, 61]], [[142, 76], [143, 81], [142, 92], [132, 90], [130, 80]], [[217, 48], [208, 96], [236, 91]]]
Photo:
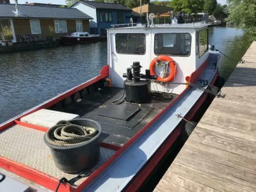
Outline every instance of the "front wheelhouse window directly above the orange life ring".
[[189, 33], [158, 33], [155, 35], [156, 55], [189, 56], [191, 35]]

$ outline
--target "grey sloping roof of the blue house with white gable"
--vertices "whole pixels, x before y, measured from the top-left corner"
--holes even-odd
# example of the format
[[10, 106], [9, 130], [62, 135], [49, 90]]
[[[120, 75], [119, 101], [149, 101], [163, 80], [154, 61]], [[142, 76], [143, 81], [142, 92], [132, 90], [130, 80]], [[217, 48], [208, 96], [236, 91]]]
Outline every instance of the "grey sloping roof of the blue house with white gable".
[[130, 8], [127, 8], [126, 6], [122, 6], [122, 4], [117, 4], [117, 3], [101, 3], [96, 1], [84, 1], [84, 0], [80, 0], [78, 2], [96, 9], [123, 10], [125, 12], [132, 12]]

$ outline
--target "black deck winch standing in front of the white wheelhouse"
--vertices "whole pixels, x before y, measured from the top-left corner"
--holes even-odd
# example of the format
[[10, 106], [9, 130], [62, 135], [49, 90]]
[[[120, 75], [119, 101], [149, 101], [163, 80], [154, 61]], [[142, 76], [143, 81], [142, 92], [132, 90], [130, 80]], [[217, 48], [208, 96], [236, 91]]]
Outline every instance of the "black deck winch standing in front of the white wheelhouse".
[[151, 86], [148, 81], [141, 81], [140, 77], [146, 79], [156, 79], [156, 76], [150, 76], [150, 70], [146, 70], [145, 75], [140, 74], [140, 62], [135, 61], [131, 68], [127, 68], [127, 77], [124, 82], [127, 102], [135, 102], [138, 104], [147, 103], [151, 101]]

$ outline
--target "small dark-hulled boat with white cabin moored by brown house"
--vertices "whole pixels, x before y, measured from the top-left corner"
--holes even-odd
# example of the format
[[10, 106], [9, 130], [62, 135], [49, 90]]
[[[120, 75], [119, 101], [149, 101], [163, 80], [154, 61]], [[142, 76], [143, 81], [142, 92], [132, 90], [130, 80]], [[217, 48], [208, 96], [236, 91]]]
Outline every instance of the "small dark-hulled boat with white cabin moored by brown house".
[[87, 32], [75, 32], [69, 36], [61, 36], [60, 44], [69, 45], [69, 44], [86, 44], [91, 42], [99, 42], [106, 38], [105, 36], [100, 35], [90, 35]]

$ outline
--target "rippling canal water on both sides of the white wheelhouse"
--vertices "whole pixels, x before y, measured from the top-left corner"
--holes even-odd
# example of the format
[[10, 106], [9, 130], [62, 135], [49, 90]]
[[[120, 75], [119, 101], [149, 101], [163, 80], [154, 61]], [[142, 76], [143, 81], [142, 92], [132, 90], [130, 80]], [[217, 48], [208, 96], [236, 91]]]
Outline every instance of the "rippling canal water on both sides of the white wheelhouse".
[[[234, 60], [250, 46], [234, 28], [212, 28], [209, 35], [209, 43]], [[0, 124], [95, 77], [108, 61], [107, 52], [107, 42], [98, 42], [0, 54]], [[221, 76], [228, 79], [236, 65], [222, 56]]]

